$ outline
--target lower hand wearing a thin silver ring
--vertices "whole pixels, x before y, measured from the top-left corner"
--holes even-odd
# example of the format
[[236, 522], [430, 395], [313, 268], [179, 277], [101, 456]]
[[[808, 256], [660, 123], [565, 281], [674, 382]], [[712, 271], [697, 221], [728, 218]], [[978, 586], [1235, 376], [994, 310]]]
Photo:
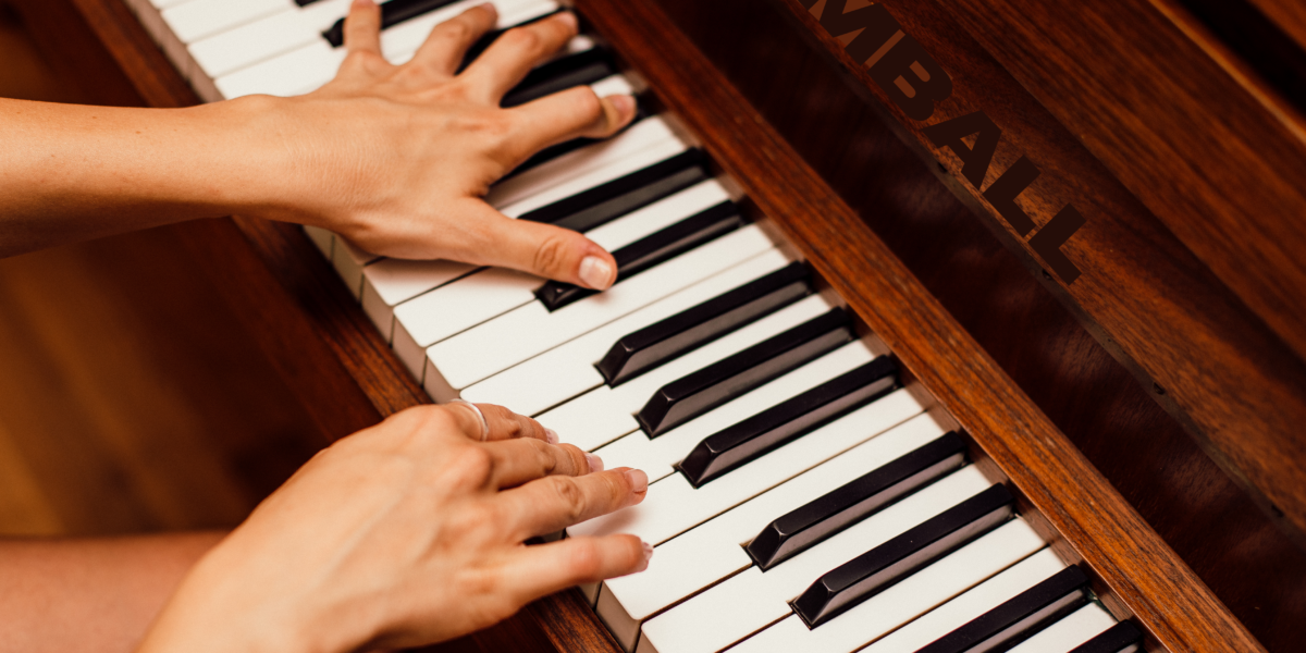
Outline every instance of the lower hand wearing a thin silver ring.
[[633, 535], [524, 546], [644, 499], [639, 470], [535, 421], [457, 404], [396, 414], [319, 453], [206, 555], [140, 650], [409, 648], [643, 571]]

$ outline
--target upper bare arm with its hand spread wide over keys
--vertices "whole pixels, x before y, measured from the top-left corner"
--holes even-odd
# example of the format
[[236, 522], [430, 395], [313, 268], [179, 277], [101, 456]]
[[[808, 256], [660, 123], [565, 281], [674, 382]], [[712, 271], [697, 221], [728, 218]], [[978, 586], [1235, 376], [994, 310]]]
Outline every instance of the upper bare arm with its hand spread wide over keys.
[[321, 226], [380, 255], [607, 287], [615, 263], [599, 246], [482, 197], [549, 145], [614, 133], [635, 103], [581, 88], [499, 108], [576, 20], [513, 30], [454, 76], [495, 21], [492, 7], [471, 9], [396, 67], [380, 55], [379, 9], [359, 0], [340, 74], [298, 98], [180, 110], [0, 101], [0, 256], [235, 213]]

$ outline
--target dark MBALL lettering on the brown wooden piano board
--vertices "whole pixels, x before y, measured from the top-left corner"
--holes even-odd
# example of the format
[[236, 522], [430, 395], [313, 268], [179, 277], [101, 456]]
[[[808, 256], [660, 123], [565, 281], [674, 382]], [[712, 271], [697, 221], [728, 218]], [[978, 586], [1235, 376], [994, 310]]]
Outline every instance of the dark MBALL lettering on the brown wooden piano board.
[[[952, 95], [952, 78], [939, 67], [930, 52], [910, 34], [902, 31], [897, 18], [882, 4], [870, 4], [848, 10], [849, 0], [799, 0], [820, 21], [831, 37], [844, 42], [844, 50], [867, 67], [875, 84], [908, 118], [918, 123], [934, 115], [934, 107]], [[857, 3], [862, 4], [862, 3]], [[1043, 229], [1034, 231], [1034, 221], [1016, 204], [1020, 196], [1038, 179], [1041, 171], [1034, 162], [1020, 157], [989, 189], [983, 179], [993, 163], [1002, 140], [1002, 128], [976, 111], [922, 128], [935, 148], [947, 148], [961, 159], [961, 176], [983, 193], [985, 200], [1029, 247], [1067, 285], [1079, 278], [1080, 270], [1060, 247], [1087, 222], [1072, 205], [1066, 205]], [[966, 138], [974, 137], [974, 145]]]

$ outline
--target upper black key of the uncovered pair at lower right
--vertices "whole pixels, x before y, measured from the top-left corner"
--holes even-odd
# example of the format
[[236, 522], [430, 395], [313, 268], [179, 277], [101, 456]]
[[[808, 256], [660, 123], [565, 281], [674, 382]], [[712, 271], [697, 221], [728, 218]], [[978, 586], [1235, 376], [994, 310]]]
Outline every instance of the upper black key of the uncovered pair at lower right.
[[744, 547], [761, 571], [812, 547], [916, 488], [960, 468], [966, 445], [956, 432], [916, 449], [767, 525]]

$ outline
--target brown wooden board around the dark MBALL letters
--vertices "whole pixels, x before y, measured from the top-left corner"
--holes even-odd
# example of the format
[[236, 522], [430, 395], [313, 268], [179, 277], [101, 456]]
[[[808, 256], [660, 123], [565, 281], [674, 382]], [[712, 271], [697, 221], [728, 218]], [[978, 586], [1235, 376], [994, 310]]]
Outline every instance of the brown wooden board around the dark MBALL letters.
[[[1301, 538], [1306, 525], [1306, 492], [1301, 491], [1306, 487], [1306, 439], [1296, 424], [1306, 419], [1306, 394], [1301, 392], [1306, 366], [972, 38], [977, 27], [963, 29], [952, 13], [934, 3], [885, 4], [957, 80], [931, 124], [982, 108], [1004, 129], [990, 183], [1021, 154], [1028, 155], [1046, 170], [1021, 196], [1036, 222], [1049, 219], [1067, 202], [1089, 217], [1064, 247], [1084, 270], [1083, 277], [1070, 287], [1050, 286], [1113, 355], [1145, 387], [1158, 390], [1157, 401], [1212, 458], [1243, 482], [1264, 509], [1285, 513], [1285, 528]], [[785, 0], [784, 5], [858, 80], [867, 97], [883, 102], [865, 68], [848, 59], [841, 43], [797, 1]], [[1000, 46], [1015, 47], [1012, 40], [1019, 39], [1008, 38]], [[1060, 88], [1077, 89], [1070, 80], [1060, 78]], [[1104, 101], [1089, 98], [1092, 90], [1100, 89], [1066, 93], [1083, 93], [1084, 103], [1109, 111]], [[921, 133], [922, 124], [896, 107], [888, 112], [893, 127], [926, 157], [942, 161], [948, 170], [960, 167], [951, 151], [932, 149]], [[1130, 157], [1136, 144], [1118, 145], [1117, 155]], [[978, 189], [956, 178], [947, 182], [977, 214], [989, 215], [999, 238], [1040, 273], [1028, 244], [996, 217]], [[1173, 185], [1169, 180], [1158, 184]]]

